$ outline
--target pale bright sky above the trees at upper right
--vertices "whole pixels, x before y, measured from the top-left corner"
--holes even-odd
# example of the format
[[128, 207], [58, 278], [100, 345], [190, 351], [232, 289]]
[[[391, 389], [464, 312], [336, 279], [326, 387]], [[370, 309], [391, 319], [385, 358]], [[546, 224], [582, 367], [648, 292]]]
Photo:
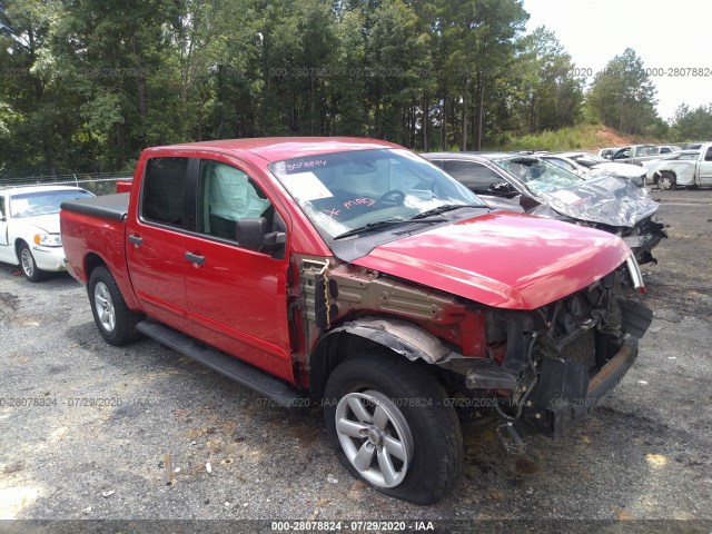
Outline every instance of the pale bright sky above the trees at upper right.
[[595, 73], [626, 48], [635, 50], [651, 75], [662, 75], [651, 81], [663, 119], [683, 102], [690, 109], [712, 103], [712, 1], [524, 0], [524, 9], [527, 32], [545, 26], [580, 69]]

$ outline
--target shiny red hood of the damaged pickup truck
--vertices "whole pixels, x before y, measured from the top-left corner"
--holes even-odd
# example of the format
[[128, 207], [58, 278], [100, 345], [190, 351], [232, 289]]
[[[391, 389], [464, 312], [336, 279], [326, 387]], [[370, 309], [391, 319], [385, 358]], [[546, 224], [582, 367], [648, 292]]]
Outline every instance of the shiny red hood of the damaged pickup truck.
[[534, 309], [589, 286], [630, 254], [611, 234], [493, 212], [379, 245], [352, 263], [487, 306]]

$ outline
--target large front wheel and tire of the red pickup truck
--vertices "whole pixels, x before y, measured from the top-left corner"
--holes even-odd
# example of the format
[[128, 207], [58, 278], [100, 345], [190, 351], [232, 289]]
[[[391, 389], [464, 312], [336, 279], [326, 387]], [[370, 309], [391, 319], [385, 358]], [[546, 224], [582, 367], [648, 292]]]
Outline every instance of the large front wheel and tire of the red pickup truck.
[[463, 461], [459, 422], [423, 367], [383, 352], [347, 359], [329, 376], [326, 427], [339, 461], [377, 491], [432, 504]]

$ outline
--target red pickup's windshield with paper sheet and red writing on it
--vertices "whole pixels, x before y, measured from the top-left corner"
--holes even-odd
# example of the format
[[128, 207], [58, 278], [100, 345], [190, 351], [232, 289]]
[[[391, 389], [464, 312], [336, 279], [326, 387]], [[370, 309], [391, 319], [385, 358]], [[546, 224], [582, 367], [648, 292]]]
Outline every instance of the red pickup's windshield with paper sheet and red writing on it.
[[366, 225], [423, 220], [418, 215], [446, 206], [486, 207], [466, 187], [404, 149], [309, 156], [269, 168], [328, 238]]

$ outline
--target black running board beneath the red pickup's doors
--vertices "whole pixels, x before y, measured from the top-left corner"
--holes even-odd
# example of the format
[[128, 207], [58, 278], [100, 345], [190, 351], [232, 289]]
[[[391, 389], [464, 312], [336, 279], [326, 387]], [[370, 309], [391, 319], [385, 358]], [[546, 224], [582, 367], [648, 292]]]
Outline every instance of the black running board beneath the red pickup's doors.
[[286, 382], [160, 323], [155, 323], [150, 319], [141, 320], [136, 325], [136, 329], [167, 347], [217, 370], [238, 384], [273, 399], [279, 406], [294, 408], [307, 405], [304, 395]]

